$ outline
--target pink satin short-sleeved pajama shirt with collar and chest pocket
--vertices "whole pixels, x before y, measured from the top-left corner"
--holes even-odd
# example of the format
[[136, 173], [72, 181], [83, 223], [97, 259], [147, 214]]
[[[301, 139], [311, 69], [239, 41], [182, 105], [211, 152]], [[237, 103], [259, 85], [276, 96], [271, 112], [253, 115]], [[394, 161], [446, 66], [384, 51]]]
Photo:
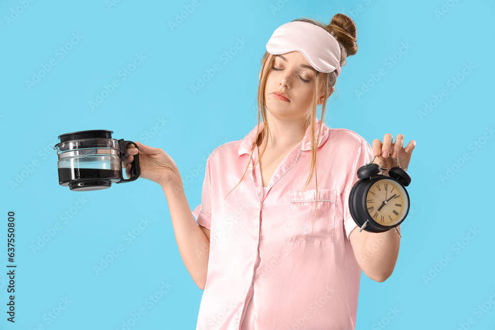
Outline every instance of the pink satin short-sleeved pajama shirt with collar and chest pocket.
[[[357, 133], [322, 125], [316, 186], [302, 189], [311, 165], [309, 127], [263, 193], [258, 159], [241, 184], [254, 129], [220, 145], [206, 161], [201, 204], [192, 211], [210, 230], [206, 284], [197, 330], [354, 330], [361, 268], [349, 235], [348, 206], [356, 171], [373, 159]], [[316, 130], [317, 131], [317, 130]], [[317, 134], [317, 132], [316, 132]]]

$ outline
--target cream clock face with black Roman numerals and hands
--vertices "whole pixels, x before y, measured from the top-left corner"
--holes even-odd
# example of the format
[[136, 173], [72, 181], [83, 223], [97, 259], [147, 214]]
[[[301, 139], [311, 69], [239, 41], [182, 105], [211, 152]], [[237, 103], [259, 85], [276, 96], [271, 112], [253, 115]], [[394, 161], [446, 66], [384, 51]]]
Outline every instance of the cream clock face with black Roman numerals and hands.
[[404, 218], [408, 198], [404, 188], [392, 179], [373, 184], [366, 194], [366, 209], [371, 218], [382, 226], [394, 226]]

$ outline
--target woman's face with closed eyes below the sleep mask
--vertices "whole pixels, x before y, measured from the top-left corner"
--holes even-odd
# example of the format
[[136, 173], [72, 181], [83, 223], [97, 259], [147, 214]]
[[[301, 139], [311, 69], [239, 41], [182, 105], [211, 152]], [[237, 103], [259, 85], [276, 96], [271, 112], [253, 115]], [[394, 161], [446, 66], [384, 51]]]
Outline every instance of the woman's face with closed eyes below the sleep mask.
[[[272, 67], [267, 69], [265, 100], [268, 111], [280, 119], [307, 118], [312, 105], [315, 70], [304, 55], [297, 50], [275, 55]], [[321, 77], [320, 74], [319, 86], [322, 86]]]

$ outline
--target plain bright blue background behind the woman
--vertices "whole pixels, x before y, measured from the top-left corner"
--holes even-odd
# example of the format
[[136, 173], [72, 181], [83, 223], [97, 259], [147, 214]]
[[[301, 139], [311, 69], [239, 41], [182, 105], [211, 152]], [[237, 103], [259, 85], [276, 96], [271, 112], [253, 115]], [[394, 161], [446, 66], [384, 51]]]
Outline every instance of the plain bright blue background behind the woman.
[[[342, 70], [325, 123], [370, 144], [386, 133], [417, 143], [396, 268], [384, 283], [362, 275], [356, 329], [493, 329], [494, 194], [491, 173], [484, 175], [495, 145], [487, 131], [495, 122], [493, 1], [109, 3], [0, 2], [0, 254], [6, 265], [13, 210], [18, 265], [15, 324], [6, 321], [0, 266], [1, 329], [122, 329], [140, 308], [146, 314], [132, 330], [195, 329], [202, 290], [182, 262], [160, 186], [140, 179], [84, 193], [62, 188], [56, 138], [108, 129], [116, 139], [163, 148], [187, 177], [193, 210], [206, 157], [256, 124], [260, 60], [272, 32], [303, 16], [328, 24], [338, 12], [354, 19], [359, 50]], [[181, 12], [186, 17], [171, 26]], [[243, 38], [228, 61], [221, 57]], [[146, 58], [123, 79], [120, 70], [136, 54]], [[50, 60], [44, 77], [27, 83]], [[220, 70], [193, 93], [191, 85], [216, 63]], [[92, 108], [112, 80], [119, 85]], [[22, 180], [12, 184], [17, 175]], [[140, 219], [148, 226], [128, 244], [123, 237]], [[60, 230], [33, 249], [57, 223]], [[97, 274], [94, 265], [118, 244], [124, 250]], [[171, 286], [150, 306], [162, 282]], [[48, 313], [58, 312], [60, 299], [70, 303], [53, 319]], [[484, 304], [484, 312], [477, 309]]]

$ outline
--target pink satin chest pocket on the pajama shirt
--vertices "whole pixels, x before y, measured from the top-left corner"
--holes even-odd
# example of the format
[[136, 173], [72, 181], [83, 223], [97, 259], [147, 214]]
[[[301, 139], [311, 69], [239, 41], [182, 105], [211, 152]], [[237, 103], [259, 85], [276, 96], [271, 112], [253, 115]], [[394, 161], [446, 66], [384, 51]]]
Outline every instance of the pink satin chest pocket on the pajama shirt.
[[316, 189], [290, 190], [285, 241], [333, 242], [336, 198], [336, 189], [318, 189], [318, 201]]

